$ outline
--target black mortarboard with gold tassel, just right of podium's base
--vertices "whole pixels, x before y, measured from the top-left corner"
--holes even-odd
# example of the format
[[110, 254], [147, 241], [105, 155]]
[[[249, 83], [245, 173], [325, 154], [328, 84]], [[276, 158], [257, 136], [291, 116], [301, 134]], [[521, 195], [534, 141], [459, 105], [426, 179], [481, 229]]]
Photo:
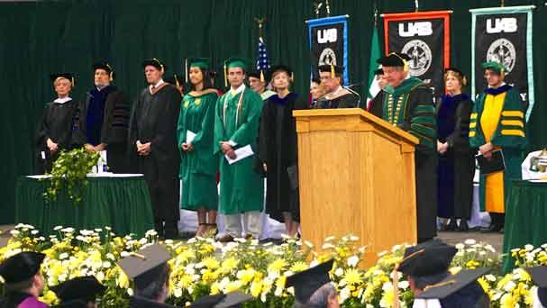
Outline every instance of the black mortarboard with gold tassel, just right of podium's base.
[[430, 240], [407, 248], [397, 270], [415, 277], [441, 274], [448, 270], [456, 252], [458, 249], [453, 246], [440, 240]]

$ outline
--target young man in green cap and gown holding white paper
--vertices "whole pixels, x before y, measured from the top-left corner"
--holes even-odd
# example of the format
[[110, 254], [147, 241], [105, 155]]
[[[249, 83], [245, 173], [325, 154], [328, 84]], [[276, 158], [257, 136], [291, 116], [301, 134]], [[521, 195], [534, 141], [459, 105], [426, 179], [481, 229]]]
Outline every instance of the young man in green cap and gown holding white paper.
[[243, 83], [245, 69], [244, 59], [224, 62], [230, 89], [218, 98], [214, 114], [214, 153], [222, 154], [219, 211], [226, 234], [219, 240], [223, 242], [242, 237], [242, 222], [247, 237], [260, 236], [264, 180], [253, 170], [253, 162], [262, 99]]

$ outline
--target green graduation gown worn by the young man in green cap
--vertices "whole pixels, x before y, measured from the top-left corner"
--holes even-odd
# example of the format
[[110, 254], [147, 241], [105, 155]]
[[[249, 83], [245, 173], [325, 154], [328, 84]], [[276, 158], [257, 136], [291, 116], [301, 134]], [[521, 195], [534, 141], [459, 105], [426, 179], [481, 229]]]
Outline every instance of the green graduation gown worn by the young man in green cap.
[[264, 203], [264, 180], [253, 170], [254, 155], [232, 165], [224, 158], [220, 142], [232, 140], [234, 149], [247, 145], [257, 153], [262, 99], [245, 87], [232, 95], [232, 90], [218, 98], [214, 114], [214, 153], [220, 159], [220, 209], [223, 214], [261, 211]]

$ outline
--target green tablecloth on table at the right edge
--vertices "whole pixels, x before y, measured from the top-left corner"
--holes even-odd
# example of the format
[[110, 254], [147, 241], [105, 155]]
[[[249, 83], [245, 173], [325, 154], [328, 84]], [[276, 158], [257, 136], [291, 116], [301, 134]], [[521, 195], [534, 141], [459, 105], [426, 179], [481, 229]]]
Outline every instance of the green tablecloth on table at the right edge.
[[547, 243], [547, 183], [514, 180], [507, 192], [503, 271], [515, 267], [511, 249]]

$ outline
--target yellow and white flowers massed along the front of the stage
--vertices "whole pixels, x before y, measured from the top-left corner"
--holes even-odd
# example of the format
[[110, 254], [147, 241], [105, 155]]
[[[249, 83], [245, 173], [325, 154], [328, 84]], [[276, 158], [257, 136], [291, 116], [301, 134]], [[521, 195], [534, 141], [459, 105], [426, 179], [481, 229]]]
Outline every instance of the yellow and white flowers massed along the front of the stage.
[[[41, 301], [59, 302], [50, 286], [76, 276], [93, 275], [107, 289], [100, 299], [101, 307], [124, 307], [133, 294], [132, 283], [116, 265], [132, 251], [158, 241], [155, 231], [144, 238], [120, 236], [109, 228], [76, 231], [61, 226], [48, 239], [31, 225], [19, 224], [12, 231], [8, 245], [0, 248], [0, 262], [23, 250], [46, 254], [42, 264], [45, 288]], [[397, 245], [382, 252], [372, 267], [360, 266], [366, 248], [356, 246], [358, 238], [348, 235], [325, 239], [322, 252], [300, 240], [286, 239], [282, 245], [261, 245], [257, 240], [236, 240], [222, 244], [211, 238], [185, 241], [165, 240], [173, 258], [169, 260], [169, 303], [186, 306], [205, 294], [239, 290], [254, 300], [244, 307], [292, 307], [294, 290], [285, 287], [287, 276], [334, 258], [331, 272], [339, 291], [342, 307], [412, 307], [414, 294], [407, 277], [398, 275], [398, 298], [394, 297], [393, 269], [403, 258], [408, 245]], [[522, 267], [545, 264], [547, 245], [512, 251], [518, 257], [517, 268], [506, 276], [499, 275], [500, 255], [487, 243], [466, 240], [452, 261], [451, 272], [465, 268], [493, 267], [479, 278], [492, 301], [492, 307], [527, 307], [532, 303], [533, 282]]]

